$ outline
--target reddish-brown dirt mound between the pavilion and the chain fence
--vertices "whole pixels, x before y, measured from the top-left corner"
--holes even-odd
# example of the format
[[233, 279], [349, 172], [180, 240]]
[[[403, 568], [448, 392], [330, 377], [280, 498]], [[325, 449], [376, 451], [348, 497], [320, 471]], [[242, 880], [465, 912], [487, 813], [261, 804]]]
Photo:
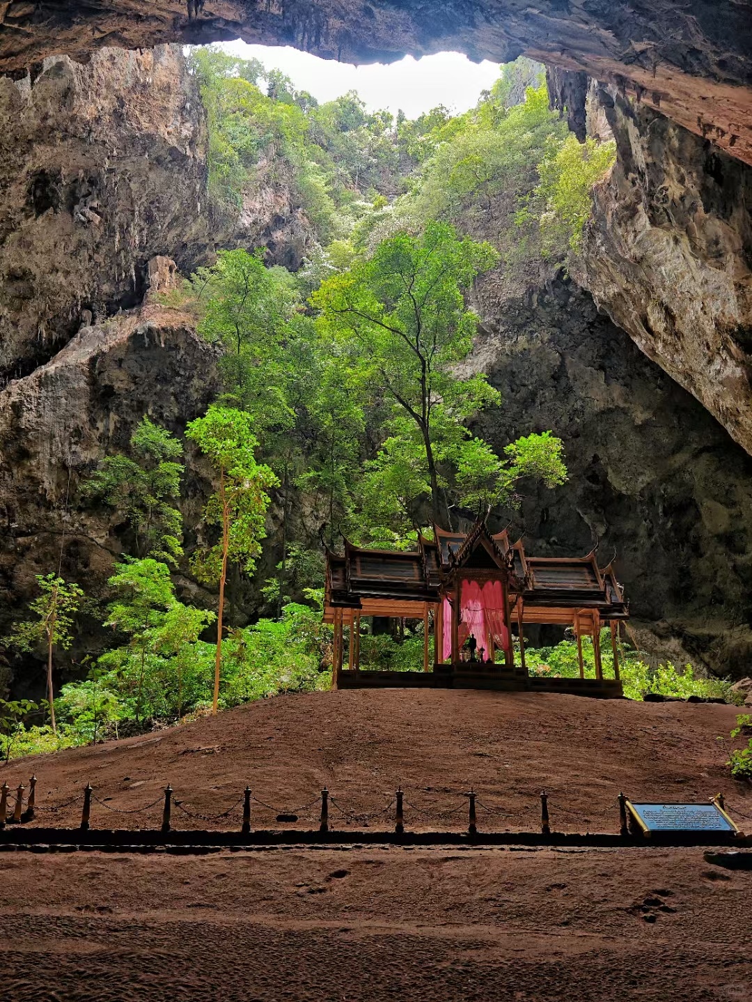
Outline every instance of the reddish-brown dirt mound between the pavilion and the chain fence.
[[[473, 787], [480, 826], [536, 829], [546, 790], [557, 830], [614, 831], [620, 790], [664, 801], [707, 801], [720, 791], [732, 807], [752, 813], [752, 794], [729, 778], [718, 741], [735, 715], [727, 705], [538, 693], [311, 692], [21, 760], [0, 774], [13, 788], [36, 773], [40, 826], [76, 825], [80, 800], [49, 809], [80, 798], [91, 783], [92, 828], [153, 828], [169, 783], [182, 805], [173, 814], [181, 829], [237, 827], [239, 806], [224, 818], [206, 818], [236, 805], [247, 784], [259, 828], [276, 826], [277, 811], [301, 808], [300, 821], [312, 824], [323, 787], [334, 799], [333, 827], [346, 828], [345, 815], [379, 812], [402, 786], [412, 829], [465, 827], [463, 795]], [[113, 813], [151, 804], [146, 813]], [[387, 813], [370, 819], [373, 828], [390, 822]], [[351, 825], [362, 827], [362, 819]]]

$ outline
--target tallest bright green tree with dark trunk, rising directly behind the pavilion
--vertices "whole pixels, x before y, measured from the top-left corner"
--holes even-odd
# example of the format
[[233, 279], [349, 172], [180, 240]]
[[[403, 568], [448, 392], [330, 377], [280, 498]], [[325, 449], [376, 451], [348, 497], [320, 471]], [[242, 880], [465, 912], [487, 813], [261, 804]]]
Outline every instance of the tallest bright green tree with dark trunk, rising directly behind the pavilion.
[[504, 462], [465, 427], [500, 400], [485, 376], [456, 372], [478, 325], [465, 294], [498, 260], [490, 244], [429, 222], [420, 236], [385, 240], [370, 260], [328, 279], [311, 297], [322, 335], [342, 353], [349, 346], [349, 364], [372, 397], [392, 405], [390, 435], [363, 484], [373, 514], [391, 506], [415, 526], [416, 503], [428, 496], [433, 521], [448, 526], [450, 474], [465, 506], [507, 500], [523, 475], [551, 484], [564, 479], [561, 443], [550, 434], [521, 440]]

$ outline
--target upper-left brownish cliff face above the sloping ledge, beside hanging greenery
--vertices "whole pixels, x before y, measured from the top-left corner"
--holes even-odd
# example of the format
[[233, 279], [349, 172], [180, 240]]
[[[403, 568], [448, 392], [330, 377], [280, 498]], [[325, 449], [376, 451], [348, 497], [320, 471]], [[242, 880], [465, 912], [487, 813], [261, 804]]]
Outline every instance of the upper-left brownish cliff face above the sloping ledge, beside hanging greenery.
[[217, 246], [265, 243], [299, 265], [309, 227], [263, 162], [239, 214], [209, 205], [203, 119], [177, 46], [0, 77], [0, 381], [139, 304], [155, 255], [188, 274]]

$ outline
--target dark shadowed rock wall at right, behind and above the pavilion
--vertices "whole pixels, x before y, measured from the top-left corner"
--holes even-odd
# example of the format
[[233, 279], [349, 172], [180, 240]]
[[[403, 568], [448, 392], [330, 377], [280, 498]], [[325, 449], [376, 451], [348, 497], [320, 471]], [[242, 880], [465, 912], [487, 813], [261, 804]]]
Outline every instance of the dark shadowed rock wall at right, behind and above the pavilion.
[[503, 396], [481, 434], [502, 448], [551, 428], [566, 444], [567, 484], [528, 485], [509, 513], [530, 552], [599, 543], [602, 566], [616, 552], [648, 650], [721, 675], [747, 671], [752, 459], [574, 284], [501, 308], [493, 288], [479, 292], [473, 365]]

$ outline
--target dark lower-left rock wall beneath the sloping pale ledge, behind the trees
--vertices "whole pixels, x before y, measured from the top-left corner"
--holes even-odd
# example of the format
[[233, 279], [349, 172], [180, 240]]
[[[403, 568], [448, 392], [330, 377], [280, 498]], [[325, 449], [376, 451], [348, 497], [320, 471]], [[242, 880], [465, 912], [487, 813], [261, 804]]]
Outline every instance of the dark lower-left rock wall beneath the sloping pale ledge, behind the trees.
[[[81, 478], [127, 451], [144, 414], [182, 434], [217, 392], [215, 359], [189, 317], [151, 304], [81, 329], [0, 394], [0, 635], [34, 597], [34, 574], [60, 567], [90, 595], [101, 590], [127, 526], [79, 503]], [[189, 469], [184, 483], [191, 524], [202, 503], [196, 476]], [[77, 637], [76, 654], [87, 639]]]

